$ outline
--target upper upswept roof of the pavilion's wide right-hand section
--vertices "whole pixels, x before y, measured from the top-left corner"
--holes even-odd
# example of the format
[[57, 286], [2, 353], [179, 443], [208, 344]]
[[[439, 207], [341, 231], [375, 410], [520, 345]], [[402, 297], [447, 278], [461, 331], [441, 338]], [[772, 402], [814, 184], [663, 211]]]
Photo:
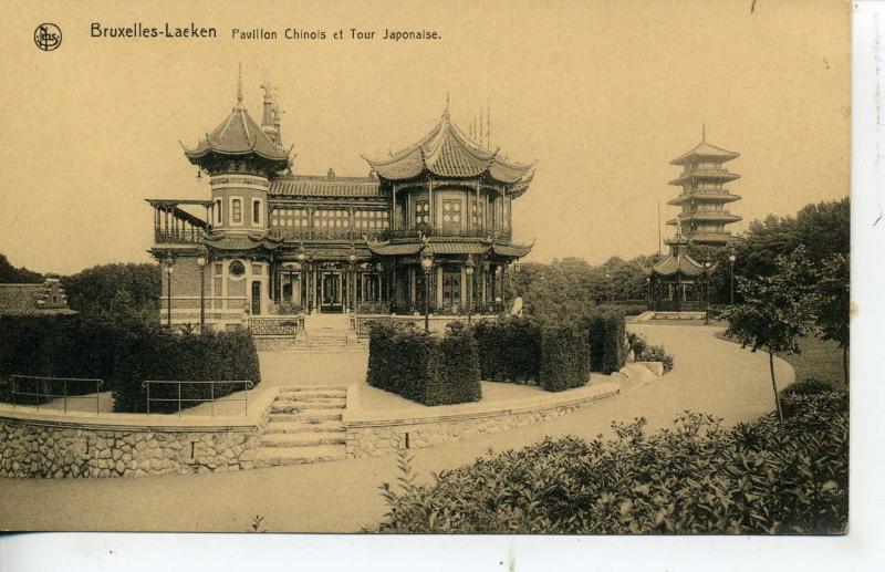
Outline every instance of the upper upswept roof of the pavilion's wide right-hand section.
[[447, 107], [441, 121], [414, 145], [388, 158], [363, 158], [379, 177], [387, 180], [414, 179], [425, 173], [438, 177], [488, 175], [504, 184], [524, 180], [532, 165], [509, 162], [500, 157], [499, 150], [485, 148], [470, 141], [450, 121]]

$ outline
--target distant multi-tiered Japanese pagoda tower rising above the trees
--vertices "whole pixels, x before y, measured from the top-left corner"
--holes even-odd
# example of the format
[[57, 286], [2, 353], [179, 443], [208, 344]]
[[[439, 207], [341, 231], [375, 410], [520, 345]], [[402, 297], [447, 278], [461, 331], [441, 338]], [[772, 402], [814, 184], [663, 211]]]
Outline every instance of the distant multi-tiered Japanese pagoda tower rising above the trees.
[[695, 148], [670, 162], [670, 165], [681, 165], [683, 173], [669, 184], [681, 187], [683, 191], [667, 202], [681, 207], [679, 215], [667, 225], [681, 223], [685, 238], [697, 245], [721, 246], [735, 240], [725, 227], [741, 218], [726, 210], [725, 205], [740, 197], [722, 185], [740, 175], [723, 168], [722, 164], [739, 156], [739, 153], [707, 143], [705, 128]]

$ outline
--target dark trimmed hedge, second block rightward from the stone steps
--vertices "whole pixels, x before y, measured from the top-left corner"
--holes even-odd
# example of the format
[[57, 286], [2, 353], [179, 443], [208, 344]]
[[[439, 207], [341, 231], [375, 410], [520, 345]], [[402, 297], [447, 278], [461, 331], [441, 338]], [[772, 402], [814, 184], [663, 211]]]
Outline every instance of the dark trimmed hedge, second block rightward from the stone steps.
[[541, 358], [538, 326], [527, 318], [480, 320], [473, 325], [482, 379], [531, 383]]

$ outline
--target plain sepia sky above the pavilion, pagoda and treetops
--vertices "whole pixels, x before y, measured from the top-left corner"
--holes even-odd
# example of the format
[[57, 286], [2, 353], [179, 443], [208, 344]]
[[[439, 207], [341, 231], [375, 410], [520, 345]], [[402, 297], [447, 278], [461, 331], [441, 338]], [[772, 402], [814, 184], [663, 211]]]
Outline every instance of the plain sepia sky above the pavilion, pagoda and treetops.
[[[294, 171], [368, 173], [438, 121], [446, 95], [469, 131], [491, 106], [491, 146], [537, 160], [513, 206], [528, 261], [598, 263], [658, 249], [679, 168], [707, 141], [727, 164], [743, 221], [848, 194], [850, 4], [842, 0], [510, 2], [6, 2], [0, 17], [0, 252], [14, 266], [72, 273], [150, 258], [145, 198], [208, 198], [183, 155], [236, 103], [260, 119], [278, 87]], [[33, 43], [38, 23], [63, 31]], [[105, 27], [214, 27], [198, 39], [91, 38]], [[233, 40], [231, 29], [278, 40]], [[287, 28], [323, 41], [285, 40]], [[350, 39], [351, 28], [375, 31]], [[383, 40], [384, 30], [439, 40]], [[344, 40], [333, 40], [335, 30]], [[671, 227], [664, 227], [664, 238]]]

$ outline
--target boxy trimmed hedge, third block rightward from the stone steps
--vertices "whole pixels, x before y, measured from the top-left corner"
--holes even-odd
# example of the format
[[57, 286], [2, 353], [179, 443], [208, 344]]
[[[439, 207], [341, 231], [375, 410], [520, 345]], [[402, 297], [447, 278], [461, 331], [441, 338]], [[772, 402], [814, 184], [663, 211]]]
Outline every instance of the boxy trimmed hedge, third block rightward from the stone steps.
[[590, 381], [590, 342], [577, 323], [553, 323], [541, 329], [538, 378], [548, 392], [581, 387]]

